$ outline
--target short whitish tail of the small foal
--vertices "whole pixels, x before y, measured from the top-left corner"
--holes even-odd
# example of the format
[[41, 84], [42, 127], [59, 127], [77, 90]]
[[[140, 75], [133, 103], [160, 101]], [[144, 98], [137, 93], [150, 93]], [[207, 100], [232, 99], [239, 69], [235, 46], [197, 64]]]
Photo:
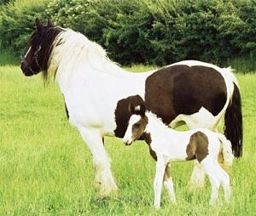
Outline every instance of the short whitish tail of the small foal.
[[232, 153], [232, 146], [229, 139], [226, 139], [226, 137], [223, 134], [218, 134], [218, 139], [221, 142], [221, 151], [223, 156], [222, 164], [224, 165], [225, 169], [229, 169], [232, 166], [233, 163], [233, 153]]

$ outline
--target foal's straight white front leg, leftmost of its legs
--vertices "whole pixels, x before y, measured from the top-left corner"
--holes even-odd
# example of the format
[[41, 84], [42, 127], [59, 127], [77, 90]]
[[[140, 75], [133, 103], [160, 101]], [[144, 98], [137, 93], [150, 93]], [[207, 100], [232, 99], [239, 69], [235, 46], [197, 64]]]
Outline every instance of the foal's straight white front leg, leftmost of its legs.
[[165, 173], [166, 164], [161, 156], [157, 156], [154, 177], [154, 207], [160, 208], [160, 198], [163, 186], [163, 178]]

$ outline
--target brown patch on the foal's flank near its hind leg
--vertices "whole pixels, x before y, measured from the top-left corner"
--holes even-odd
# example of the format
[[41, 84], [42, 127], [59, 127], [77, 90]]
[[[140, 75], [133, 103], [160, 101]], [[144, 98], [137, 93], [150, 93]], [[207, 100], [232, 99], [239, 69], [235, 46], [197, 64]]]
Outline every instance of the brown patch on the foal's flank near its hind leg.
[[187, 158], [186, 160], [197, 159], [201, 162], [208, 155], [208, 138], [206, 134], [200, 131], [192, 134], [189, 139], [189, 145], [187, 146]]

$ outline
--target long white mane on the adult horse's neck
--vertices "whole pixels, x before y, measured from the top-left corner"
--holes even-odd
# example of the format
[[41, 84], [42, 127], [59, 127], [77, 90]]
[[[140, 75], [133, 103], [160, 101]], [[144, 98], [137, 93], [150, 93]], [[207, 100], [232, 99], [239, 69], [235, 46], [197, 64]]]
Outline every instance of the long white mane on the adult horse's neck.
[[[49, 56], [49, 71], [51, 73], [72, 68], [93, 68], [96, 71], [120, 75], [124, 72], [116, 63], [108, 59], [107, 53], [95, 42], [91, 42], [83, 34], [71, 29], [63, 29], [53, 43]], [[86, 71], [84, 71], [86, 72]]]

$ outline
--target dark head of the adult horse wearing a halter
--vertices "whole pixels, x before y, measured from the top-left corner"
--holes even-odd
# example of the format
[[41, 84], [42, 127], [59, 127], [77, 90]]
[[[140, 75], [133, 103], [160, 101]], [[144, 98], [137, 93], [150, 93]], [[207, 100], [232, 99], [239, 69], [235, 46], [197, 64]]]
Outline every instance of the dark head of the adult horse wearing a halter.
[[47, 26], [44, 26], [37, 19], [36, 27], [36, 31], [32, 33], [29, 40], [29, 48], [20, 63], [20, 68], [25, 76], [36, 75], [40, 71], [47, 70], [51, 45], [60, 32], [60, 30], [54, 30], [56, 28], [50, 20], [48, 20]]

